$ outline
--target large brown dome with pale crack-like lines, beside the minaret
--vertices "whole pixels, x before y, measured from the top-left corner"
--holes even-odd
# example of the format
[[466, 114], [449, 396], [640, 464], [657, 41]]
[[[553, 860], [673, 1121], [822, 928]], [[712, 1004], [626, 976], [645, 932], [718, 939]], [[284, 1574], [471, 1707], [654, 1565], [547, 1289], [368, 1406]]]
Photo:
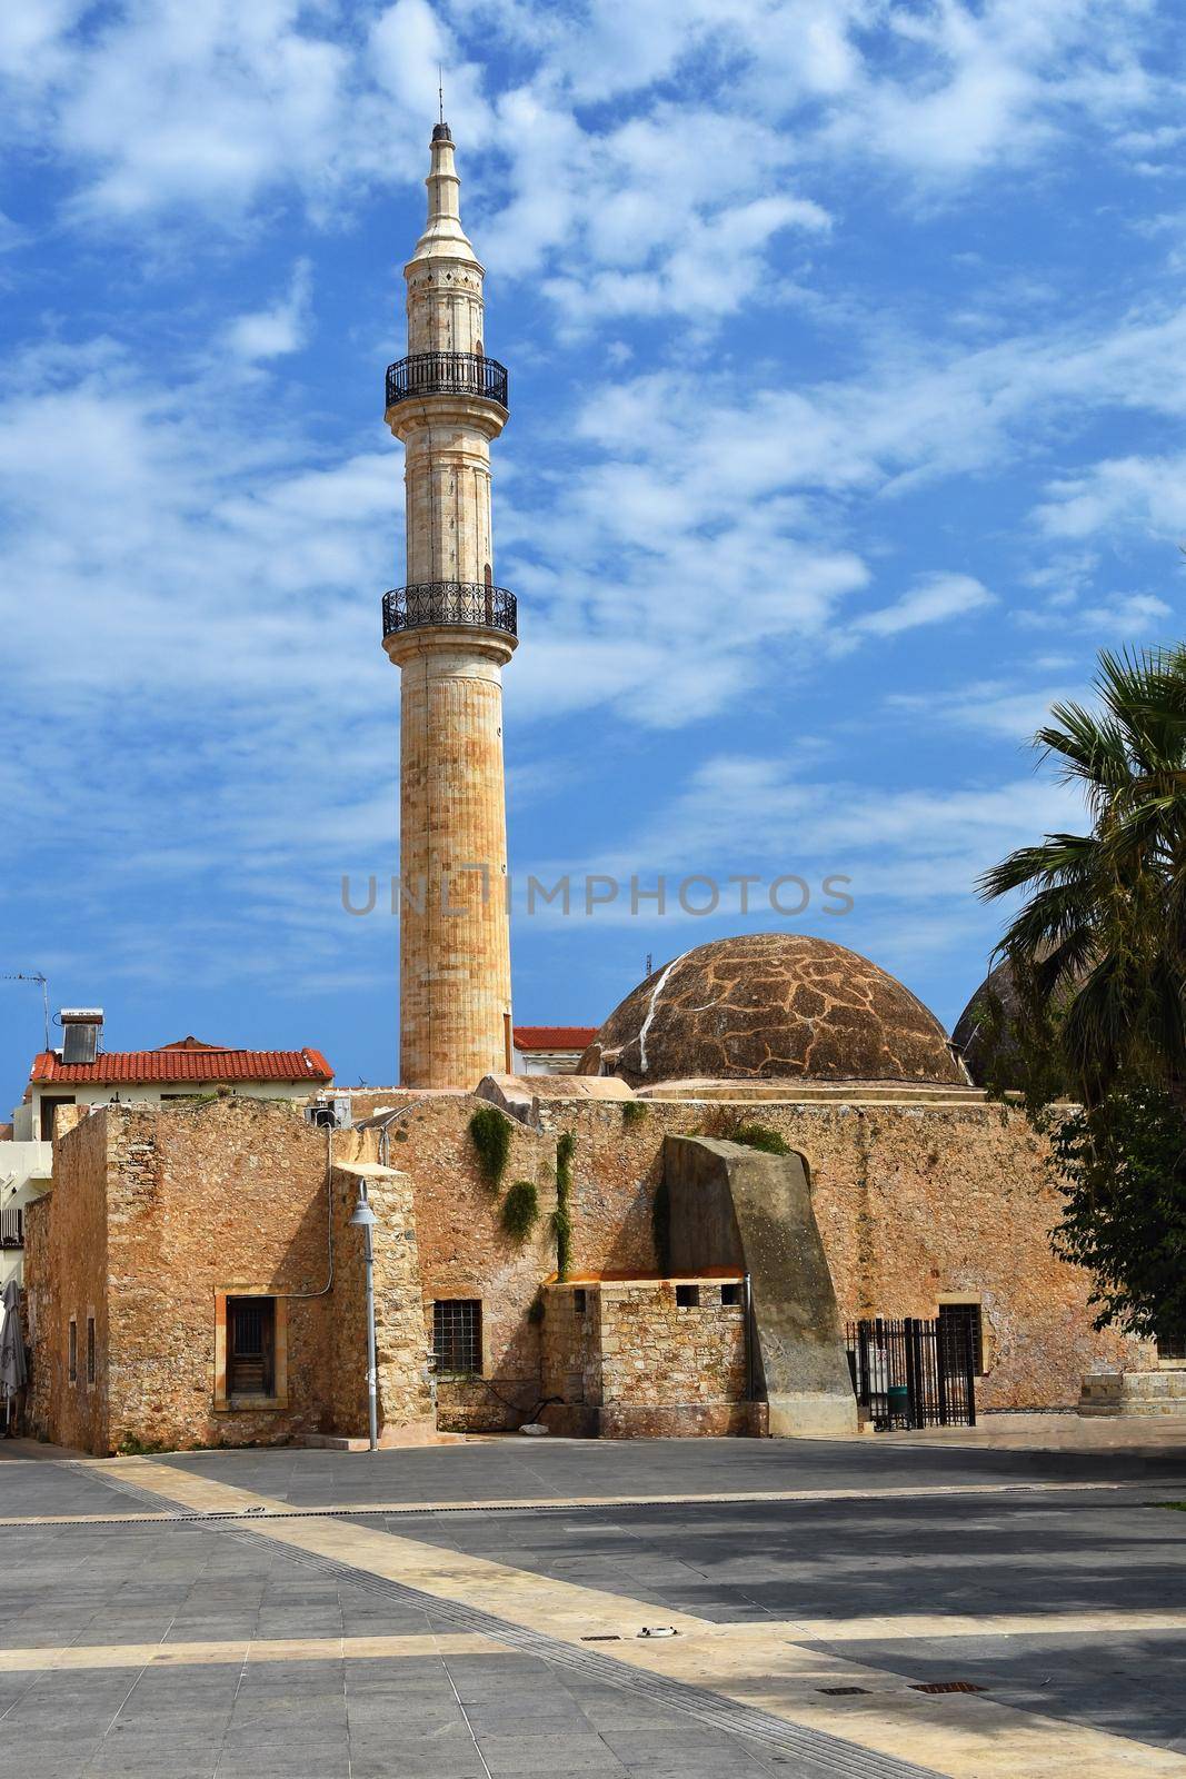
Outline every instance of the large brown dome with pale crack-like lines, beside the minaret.
[[964, 1087], [935, 1016], [868, 957], [759, 932], [697, 945], [615, 1007], [580, 1062], [631, 1087], [676, 1080]]

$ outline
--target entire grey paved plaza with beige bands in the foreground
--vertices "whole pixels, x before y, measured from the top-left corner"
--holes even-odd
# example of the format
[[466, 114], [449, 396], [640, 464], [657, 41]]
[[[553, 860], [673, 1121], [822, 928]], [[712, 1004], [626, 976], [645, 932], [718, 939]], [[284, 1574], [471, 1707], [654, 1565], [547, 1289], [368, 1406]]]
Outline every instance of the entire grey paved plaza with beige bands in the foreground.
[[1181, 1496], [1152, 1436], [9, 1457], [4, 1772], [1186, 1775]]

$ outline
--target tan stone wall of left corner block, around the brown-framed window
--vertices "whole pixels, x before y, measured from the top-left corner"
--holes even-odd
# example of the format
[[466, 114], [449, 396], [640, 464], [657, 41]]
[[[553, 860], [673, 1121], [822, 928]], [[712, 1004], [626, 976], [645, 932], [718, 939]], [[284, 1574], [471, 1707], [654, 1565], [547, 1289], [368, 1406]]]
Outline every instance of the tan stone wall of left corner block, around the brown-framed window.
[[[85, 1117], [55, 1146], [53, 1188], [27, 1256], [36, 1425], [92, 1452], [270, 1445], [357, 1432], [361, 1393], [365, 1427], [361, 1235], [347, 1222], [356, 1188], [334, 1174], [331, 1258], [329, 1163], [373, 1160], [375, 1149], [373, 1135], [331, 1137], [283, 1101], [116, 1105]], [[400, 1240], [377, 1267], [393, 1427], [430, 1413], [414, 1226], [397, 1199], [384, 1213]], [[286, 1393], [274, 1405], [219, 1407], [219, 1299], [251, 1292], [283, 1300]], [[62, 1366], [69, 1315], [84, 1318], [91, 1302], [98, 1388], [87, 1397], [64, 1382]]]

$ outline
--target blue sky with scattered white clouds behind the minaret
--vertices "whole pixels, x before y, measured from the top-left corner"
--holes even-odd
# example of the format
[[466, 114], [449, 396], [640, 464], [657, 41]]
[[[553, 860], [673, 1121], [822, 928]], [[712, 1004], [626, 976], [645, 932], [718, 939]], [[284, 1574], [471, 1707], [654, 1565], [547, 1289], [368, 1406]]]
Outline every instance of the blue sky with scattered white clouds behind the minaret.
[[[0, 970], [112, 1048], [395, 1076], [397, 929], [340, 886], [398, 865], [382, 370], [443, 60], [512, 872], [814, 891], [519, 913], [516, 1019], [786, 925], [951, 1021], [976, 873], [1079, 818], [1026, 737], [1181, 635], [1181, 44], [1156, 0], [4, 9]], [[0, 1103], [39, 1032], [0, 984]]]

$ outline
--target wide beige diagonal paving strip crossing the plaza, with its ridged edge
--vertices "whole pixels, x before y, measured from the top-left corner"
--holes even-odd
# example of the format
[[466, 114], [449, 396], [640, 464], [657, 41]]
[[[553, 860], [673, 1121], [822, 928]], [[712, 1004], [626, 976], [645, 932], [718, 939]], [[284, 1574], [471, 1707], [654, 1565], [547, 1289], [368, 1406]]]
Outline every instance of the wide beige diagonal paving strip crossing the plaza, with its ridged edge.
[[[87, 1466], [94, 1477], [96, 1468]], [[1060, 1719], [998, 1704], [983, 1695], [923, 1695], [900, 1674], [821, 1656], [800, 1647], [804, 1628], [718, 1626], [665, 1612], [679, 1633], [640, 1638], [654, 1606], [505, 1564], [427, 1546], [357, 1519], [277, 1512], [283, 1503], [196, 1477], [172, 1466], [126, 1459], [100, 1478], [174, 1519], [226, 1514], [220, 1537], [283, 1550], [293, 1562], [341, 1583], [430, 1610], [459, 1633], [493, 1638], [567, 1672], [603, 1681], [761, 1745], [804, 1775], [850, 1779], [1118, 1779], [1177, 1775], [1186, 1758]], [[478, 1503], [471, 1503], [477, 1507]], [[555, 1503], [553, 1503], [555, 1505]], [[251, 1517], [244, 1523], [244, 1512]], [[430, 1514], [432, 1507], [421, 1512]], [[409, 1580], [411, 1578], [411, 1580]], [[413, 1585], [416, 1583], [416, 1585]], [[496, 1603], [498, 1612], [475, 1601]], [[621, 1626], [628, 1635], [613, 1656], [590, 1649], [592, 1630]], [[788, 1631], [797, 1633], [789, 1635]], [[869, 1697], [823, 1688], [862, 1685]], [[786, 1751], [786, 1752], [782, 1752]], [[921, 1767], [907, 1756], [921, 1756]]]

